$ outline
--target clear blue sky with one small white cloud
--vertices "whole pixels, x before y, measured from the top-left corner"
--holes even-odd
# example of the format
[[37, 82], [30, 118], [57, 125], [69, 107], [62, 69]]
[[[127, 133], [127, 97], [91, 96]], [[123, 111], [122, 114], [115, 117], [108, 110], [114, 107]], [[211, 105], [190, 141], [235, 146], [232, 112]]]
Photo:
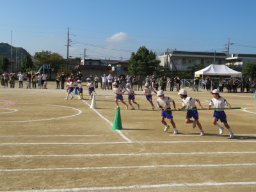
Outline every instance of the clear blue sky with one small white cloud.
[[[156, 52], [256, 54], [255, 0], [0, 0], [0, 42], [63, 58]], [[254, 19], [253, 19], [254, 18]], [[69, 31], [69, 35], [68, 35]]]

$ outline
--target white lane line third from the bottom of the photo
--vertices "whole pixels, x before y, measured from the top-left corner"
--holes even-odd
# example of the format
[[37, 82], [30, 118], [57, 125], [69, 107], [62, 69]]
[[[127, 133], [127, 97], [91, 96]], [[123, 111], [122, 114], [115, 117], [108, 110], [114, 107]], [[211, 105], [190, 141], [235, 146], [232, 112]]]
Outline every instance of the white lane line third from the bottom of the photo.
[[186, 155], [212, 155], [212, 154], [256, 154], [256, 151], [248, 152], [170, 152], [170, 153], [144, 153], [144, 154], [63, 154], [63, 155], [2, 155], [0, 158], [11, 157], [111, 157], [111, 156], [186, 156]]

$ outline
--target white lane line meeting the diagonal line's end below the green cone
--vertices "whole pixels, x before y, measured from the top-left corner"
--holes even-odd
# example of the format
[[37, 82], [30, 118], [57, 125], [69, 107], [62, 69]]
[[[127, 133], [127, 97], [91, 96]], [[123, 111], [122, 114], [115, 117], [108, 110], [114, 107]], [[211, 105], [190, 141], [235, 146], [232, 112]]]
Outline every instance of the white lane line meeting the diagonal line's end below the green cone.
[[256, 143], [255, 140], [227, 140], [227, 141], [128, 141], [128, 142], [100, 142], [100, 143], [0, 143], [0, 145], [104, 145], [127, 143]]

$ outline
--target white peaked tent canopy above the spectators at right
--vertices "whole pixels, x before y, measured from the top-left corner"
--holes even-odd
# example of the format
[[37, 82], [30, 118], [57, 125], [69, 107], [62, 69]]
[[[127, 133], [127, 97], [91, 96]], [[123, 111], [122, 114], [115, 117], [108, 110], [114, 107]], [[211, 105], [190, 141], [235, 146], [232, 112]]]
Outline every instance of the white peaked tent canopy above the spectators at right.
[[214, 76], [239, 76], [242, 77], [242, 73], [236, 70], [228, 68], [226, 65], [209, 65], [201, 70], [195, 72], [196, 75], [214, 75]]

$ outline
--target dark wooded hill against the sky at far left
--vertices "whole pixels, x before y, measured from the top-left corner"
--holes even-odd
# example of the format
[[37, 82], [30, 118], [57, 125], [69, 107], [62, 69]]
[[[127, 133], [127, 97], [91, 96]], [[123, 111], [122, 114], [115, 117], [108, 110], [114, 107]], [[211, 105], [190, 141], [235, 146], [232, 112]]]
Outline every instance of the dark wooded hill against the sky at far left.
[[[17, 51], [17, 52], [16, 52]], [[22, 56], [29, 55], [31, 56], [26, 49], [23, 49], [22, 47], [13, 47], [12, 46], [12, 60], [15, 60], [16, 56], [17, 58], [20, 58]], [[6, 56], [7, 58], [11, 59], [11, 45], [6, 43], [0, 43], [0, 58]]]

